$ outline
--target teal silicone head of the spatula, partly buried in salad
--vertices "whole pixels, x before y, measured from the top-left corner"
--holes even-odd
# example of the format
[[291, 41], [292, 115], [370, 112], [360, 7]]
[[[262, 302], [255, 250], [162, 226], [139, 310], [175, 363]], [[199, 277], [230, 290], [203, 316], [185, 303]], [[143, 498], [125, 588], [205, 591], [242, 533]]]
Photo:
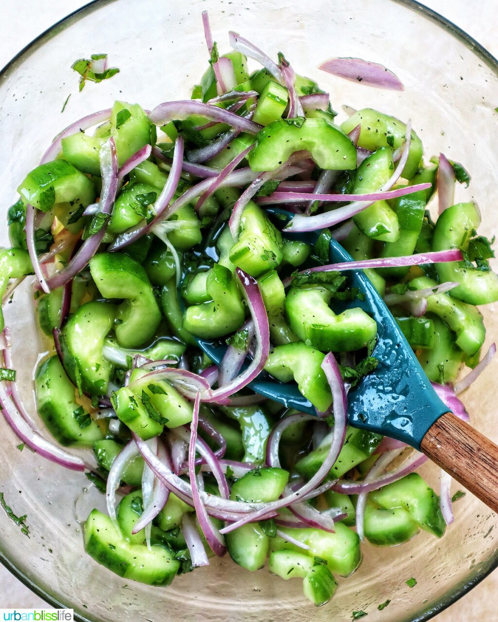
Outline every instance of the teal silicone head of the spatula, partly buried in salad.
[[[276, 223], [280, 226], [291, 218], [288, 212], [268, 211], [278, 216]], [[296, 239], [296, 235], [289, 234], [289, 238]], [[301, 235], [299, 239], [314, 244], [317, 234]], [[344, 261], [352, 261], [352, 258], [341, 244], [332, 239], [329, 262]], [[427, 430], [441, 414], [448, 412], [448, 407], [436, 395], [395, 319], [363, 271], [347, 271], [344, 274], [349, 279], [350, 287], [357, 287], [364, 293], [364, 299], [355, 298], [345, 306], [360, 307], [377, 322], [377, 345], [372, 356], [377, 358], [378, 366], [365, 376], [355, 391], [350, 392], [348, 423], [419, 448]], [[222, 360], [225, 348], [216, 346], [212, 341], [199, 339], [198, 343], [215, 363]], [[250, 384], [250, 388], [284, 406], [316, 413], [295, 383], [279, 383], [263, 373]]]

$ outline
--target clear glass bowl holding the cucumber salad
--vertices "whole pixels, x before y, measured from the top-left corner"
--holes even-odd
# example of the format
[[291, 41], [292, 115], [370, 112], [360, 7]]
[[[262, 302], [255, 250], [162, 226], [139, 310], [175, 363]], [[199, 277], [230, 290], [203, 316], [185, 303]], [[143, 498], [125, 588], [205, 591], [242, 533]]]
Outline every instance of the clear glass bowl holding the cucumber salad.
[[[0, 196], [2, 218], [16, 200], [17, 184], [39, 161], [54, 135], [115, 99], [153, 108], [186, 98], [207, 63], [200, 12], [209, 10], [214, 38], [228, 49], [227, 32], [237, 30], [271, 55], [284, 52], [299, 73], [331, 93], [334, 108], [371, 106], [411, 118], [428, 156], [443, 151], [471, 172], [458, 200], [479, 202], [482, 233], [494, 227], [498, 66], [496, 60], [453, 25], [415, 2], [316, 0], [101, 0], [76, 12], [35, 40], [0, 77]], [[78, 93], [77, 58], [107, 52], [121, 73]], [[395, 72], [405, 91], [383, 91], [334, 78], [317, 65], [329, 57], [354, 56]], [[72, 93], [61, 114], [62, 104]], [[344, 115], [344, 113], [341, 113]], [[480, 230], [481, 231], [481, 230]], [[2, 228], [2, 245], [7, 230]], [[497, 335], [496, 305], [484, 309], [487, 345]], [[32, 369], [44, 349], [34, 329], [29, 292], [7, 305], [17, 378], [26, 405], [34, 410]], [[495, 398], [489, 384], [498, 360], [466, 394], [476, 427], [498, 440]], [[176, 578], [171, 587], [126, 581], [83, 552], [82, 521], [103, 496], [81, 474], [57, 468], [18, 442], [0, 417], [3, 451], [0, 490], [15, 513], [27, 514], [31, 537], [0, 514], [0, 559], [40, 596], [75, 610], [78, 620], [349, 620], [363, 610], [375, 620], [428, 620], [466, 593], [498, 563], [496, 516], [468, 494], [455, 504], [455, 522], [438, 540], [420, 534], [393, 548], [364, 547], [359, 570], [339, 580], [332, 601], [316, 610], [304, 599], [301, 582], [248, 573], [231, 560]], [[438, 470], [424, 475], [437, 486]], [[454, 486], [454, 491], [458, 486]], [[406, 580], [414, 577], [416, 586]], [[377, 606], [390, 599], [379, 611]]]

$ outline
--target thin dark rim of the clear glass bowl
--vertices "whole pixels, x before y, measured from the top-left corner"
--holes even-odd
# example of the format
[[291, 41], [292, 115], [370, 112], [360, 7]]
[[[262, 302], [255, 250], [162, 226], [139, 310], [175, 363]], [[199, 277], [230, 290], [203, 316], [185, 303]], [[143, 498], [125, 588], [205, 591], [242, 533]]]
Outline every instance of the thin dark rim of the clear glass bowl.
[[[27, 44], [22, 50], [17, 52], [17, 54], [11, 58], [11, 60], [0, 70], [0, 81], [2, 81], [6, 75], [9, 73], [9, 70], [13, 65], [17, 62], [17, 60], [21, 58], [26, 58], [31, 55], [38, 47], [44, 44], [45, 40], [49, 39], [50, 36], [56, 31], [60, 26], [69, 21], [75, 21], [79, 17], [85, 16], [88, 12], [95, 11], [100, 6], [105, 6], [105, 4], [110, 4], [111, 2], [116, 2], [117, 0], [92, 0], [88, 2], [88, 4], [83, 5], [79, 9], [76, 9], [72, 13], [63, 17], [59, 21], [55, 22], [52, 26], [44, 30], [44, 32], [40, 33], [35, 39], [31, 41], [31, 43]], [[486, 65], [491, 68], [498, 75], [498, 59], [494, 57], [490, 52], [486, 50], [479, 42], [471, 37], [471, 35], [467, 34], [463, 29], [453, 22], [443, 17], [438, 12], [426, 7], [424, 4], [417, 2], [416, 0], [391, 0], [396, 4], [401, 4], [406, 7], [406, 9], [410, 9], [411, 11], [415, 11], [425, 17], [428, 17], [433, 22], [436, 22], [438, 26], [447, 30], [451, 35], [453, 35], [456, 39], [460, 40], [464, 45], [472, 49], [472, 52], [476, 54], [477, 57], [481, 58], [481, 60], [486, 63]], [[12, 560], [7, 559], [1, 550], [0, 550], [0, 563], [6, 567], [9, 572], [11, 572], [14, 577], [19, 579], [27, 588], [29, 588], [32, 592], [34, 592], [37, 596], [40, 596], [43, 600], [47, 601], [49, 605], [55, 608], [65, 608], [65, 604], [61, 601], [57, 600], [57, 598], [48, 592], [45, 592], [39, 585], [32, 582], [26, 575], [24, 575], [19, 569], [17, 569], [16, 565]], [[426, 620], [430, 620], [434, 616], [444, 611], [450, 605], [456, 603], [456, 601], [464, 596], [467, 592], [469, 592], [473, 587], [475, 587], [478, 583], [481, 583], [493, 570], [498, 567], [498, 551], [496, 554], [489, 560], [487, 565], [482, 565], [481, 572], [473, 577], [468, 582], [461, 585], [459, 588], [454, 590], [453, 593], [443, 598], [438, 605], [431, 608], [429, 611], [425, 611], [417, 618], [414, 618], [413, 622], [424, 622]], [[99, 622], [92, 616], [80, 616], [75, 613], [74, 619], [76, 622]]]

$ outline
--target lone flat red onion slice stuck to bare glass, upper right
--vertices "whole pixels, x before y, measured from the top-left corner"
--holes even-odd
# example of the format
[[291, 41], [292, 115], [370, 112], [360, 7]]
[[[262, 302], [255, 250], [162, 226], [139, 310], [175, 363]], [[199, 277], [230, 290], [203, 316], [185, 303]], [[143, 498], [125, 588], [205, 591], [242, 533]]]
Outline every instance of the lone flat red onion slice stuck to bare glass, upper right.
[[391, 91], [405, 90], [402, 81], [387, 67], [362, 58], [331, 58], [322, 63], [319, 69], [367, 86], [386, 88]]

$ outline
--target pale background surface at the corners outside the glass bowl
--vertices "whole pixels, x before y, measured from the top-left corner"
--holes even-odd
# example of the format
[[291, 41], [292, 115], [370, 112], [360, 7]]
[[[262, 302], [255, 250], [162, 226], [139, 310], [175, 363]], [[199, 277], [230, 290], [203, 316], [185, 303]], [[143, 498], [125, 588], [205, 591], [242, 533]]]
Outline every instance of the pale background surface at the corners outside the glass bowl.
[[[137, 0], [139, 1], [139, 0]], [[372, 2], [375, 0], [372, 0]], [[24, 45], [68, 13], [83, 6], [81, 0], [0, 0], [0, 67]], [[498, 56], [498, 12], [496, 0], [426, 0], [431, 7]], [[436, 622], [498, 620], [496, 593], [498, 571], [487, 577], [472, 592], [434, 618]], [[45, 606], [44, 601], [22, 585], [4, 567], [0, 567], [0, 608]]]

